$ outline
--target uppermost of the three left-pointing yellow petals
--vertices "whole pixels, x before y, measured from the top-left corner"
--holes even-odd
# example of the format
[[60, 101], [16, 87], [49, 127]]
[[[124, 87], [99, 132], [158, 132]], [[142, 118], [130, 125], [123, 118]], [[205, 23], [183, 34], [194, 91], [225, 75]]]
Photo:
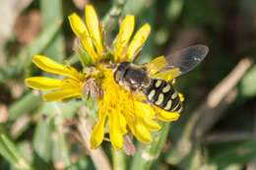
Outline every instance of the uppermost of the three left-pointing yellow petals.
[[32, 62], [43, 71], [78, 79], [79, 73], [76, 71], [76, 69], [73, 67], [65, 67], [48, 57], [42, 55], [34, 55]]

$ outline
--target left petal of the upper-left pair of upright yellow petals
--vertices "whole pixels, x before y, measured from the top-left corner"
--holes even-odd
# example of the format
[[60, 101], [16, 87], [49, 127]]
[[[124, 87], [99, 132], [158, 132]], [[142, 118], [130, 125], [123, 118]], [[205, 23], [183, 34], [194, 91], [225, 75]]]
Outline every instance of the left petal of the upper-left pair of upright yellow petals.
[[96, 51], [95, 47], [93, 44], [92, 37], [89, 34], [89, 31], [83, 22], [83, 20], [77, 15], [77, 14], [72, 14], [69, 16], [69, 22], [70, 26], [75, 32], [75, 34], [81, 39], [84, 48], [86, 51], [89, 53], [90, 57], [92, 58], [92, 63], [96, 63]]

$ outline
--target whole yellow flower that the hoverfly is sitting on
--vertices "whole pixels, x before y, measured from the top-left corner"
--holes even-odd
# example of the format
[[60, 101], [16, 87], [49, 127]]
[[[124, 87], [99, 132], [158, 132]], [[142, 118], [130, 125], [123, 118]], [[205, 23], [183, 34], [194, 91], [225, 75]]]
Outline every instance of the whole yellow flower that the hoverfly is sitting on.
[[[116, 84], [113, 77], [113, 70], [109, 69], [111, 64], [102, 64], [103, 59], [111, 59], [112, 63], [118, 64], [124, 61], [133, 62], [135, 56], [141, 50], [147, 40], [151, 27], [146, 24], [133, 35], [135, 28], [135, 17], [127, 15], [123, 20], [117, 39], [113, 42], [110, 51], [109, 47], [104, 46], [103, 27], [99, 25], [96, 11], [93, 6], [86, 6], [86, 24], [77, 15], [69, 17], [70, 25], [75, 34], [82, 42], [82, 49], [86, 56], [90, 57], [90, 64], [95, 66], [94, 74], [81, 74], [71, 66], [60, 65], [46, 57], [36, 55], [33, 63], [40, 69], [68, 77], [62, 81], [33, 77], [26, 80], [26, 84], [36, 89], [58, 89], [42, 96], [46, 101], [60, 100], [82, 95], [83, 85], [87, 85], [87, 78], [94, 78], [96, 85], [103, 91], [98, 98], [99, 107], [98, 120], [91, 136], [91, 147], [96, 148], [104, 138], [104, 129], [108, 125], [110, 142], [114, 148], [119, 149], [123, 146], [123, 136], [130, 130], [140, 141], [150, 143], [152, 136], [150, 131], [160, 131], [161, 121], [174, 121], [178, 119], [178, 112], [167, 112], [157, 106], [153, 106], [143, 101], [146, 96], [140, 91], [131, 91], [122, 85]], [[107, 54], [111, 54], [111, 57]], [[163, 57], [160, 60], [164, 60]], [[83, 59], [82, 59], [83, 61]], [[86, 64], [84, 63], [86, 66]], [[158, 66], [157, 70], [163, 67]], [[152, 71], [151, 73], [157, 73]], [[165, 73], [166, 74], [166, 73]], [[169, 73], [168, 73], [169, 74]], [[160, 77], [160, 75], [155, 75]], [[173, 75], [168, 75], [168, 81], [173, 79]], [[162, 78], [164, 79], [164, 78]], [[180, 96], [180, 98], [182, 98]]]

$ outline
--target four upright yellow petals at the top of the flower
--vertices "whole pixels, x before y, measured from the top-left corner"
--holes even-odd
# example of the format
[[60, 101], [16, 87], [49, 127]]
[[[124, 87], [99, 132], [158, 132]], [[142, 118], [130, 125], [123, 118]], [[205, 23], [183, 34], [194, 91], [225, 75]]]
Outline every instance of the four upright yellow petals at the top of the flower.
[[[96, 16], [96, 11], [93, 6], [86, 6], [86, 24], [77, 15], [72, 14], [69, 17], [70, 25], [75, 34], [80, 38], [84, 49], [90, 55], [92, 64], [96, 65], [102, 59], [105, 59], [106, 51], [102, 42], [103, 27], [99, 27]], [[127, 15], [122, 22], [118, 33], [116, 44], [113, 44], [114, 63], [123, 61], [133, 61], [138, 51], [147, 40], [151, 27], [146, 24], [140, 28], [134, 35], [130, 44], [129, 40], [133, 34], [135, 27], [135, 18], [132, 15]]]

